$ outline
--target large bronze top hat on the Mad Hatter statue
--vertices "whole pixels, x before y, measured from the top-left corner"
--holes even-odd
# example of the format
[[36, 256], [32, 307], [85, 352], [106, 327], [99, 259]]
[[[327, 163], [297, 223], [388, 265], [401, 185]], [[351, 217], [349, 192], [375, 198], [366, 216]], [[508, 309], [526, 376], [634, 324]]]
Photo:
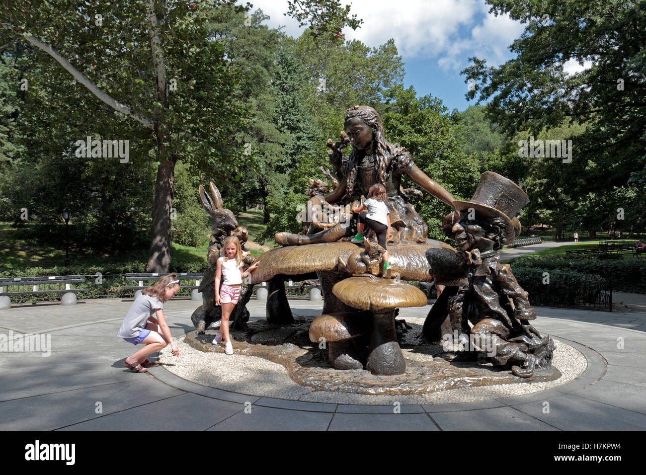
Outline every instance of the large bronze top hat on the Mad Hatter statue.
[[473, 208], [486, 218], [502, 218], [506, 226], [505, 244], [511, 244], [516, 238], [512, 218], [528, 203], [529, 196], [512, 180], [486, 171], [480, 176], [480, 184], [471, 201], [454, 201], [453, 207], [458, 211]]

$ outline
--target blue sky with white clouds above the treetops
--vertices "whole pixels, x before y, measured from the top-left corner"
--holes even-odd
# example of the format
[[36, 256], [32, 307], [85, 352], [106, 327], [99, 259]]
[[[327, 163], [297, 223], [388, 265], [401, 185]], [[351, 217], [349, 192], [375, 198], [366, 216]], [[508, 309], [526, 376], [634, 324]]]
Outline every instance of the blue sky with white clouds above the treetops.
[[[287, 12], [287, 0], [249, 0], [271, 18], [267, 25], [284, 25], [291, 36], [302, 28]], [[346, 39], [360, 39], [377, 47], [391, 37], [404, 61], [404, 85], [412, 85], [418, 96], [432, 94], [444, 105], [463, 111], [467, 85], [460, 71], [468, 58], [485, 58], [499, 65], [512, 58], [508, 46], [521, 35], [524, 25], [507, 16], [489, 14], [484, 0], [384, 0], [341, 1], [351, 3], [351, 14], [364, 24], [356, 31], [346, 28]]]

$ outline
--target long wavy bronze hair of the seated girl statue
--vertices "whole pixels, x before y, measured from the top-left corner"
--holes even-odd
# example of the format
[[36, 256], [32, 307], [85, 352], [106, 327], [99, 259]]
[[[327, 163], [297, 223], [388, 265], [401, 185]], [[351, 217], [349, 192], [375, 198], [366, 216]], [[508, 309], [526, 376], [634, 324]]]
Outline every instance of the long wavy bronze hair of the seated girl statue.
[[[377, 176], [379, 178], [379, 182], [381, 184], [385, 184], [386, 180], [388, 180], [388, 165], [390, 165], [391, 157], [397, 153], [397, 147], [386, 141], [386, 137], [384, 136], [384, 127], [381, 124], [381, 118], [375, 109], [367, 105], [355, 105], [355, 107], [346, 111], [344, 126], [349, 120], [355, 117], [363, 120], [366, 125], [372, 129], [372, 140], [375, 144], [375, 156], [377, 158]], [[357, 150], [352, 147], [352, 151], [348, 158], [348, 164], [344, 170], [345, 175], [348, 177], [348, 195], [352, 195], [352, 190], [354, 189], [355, 182], [357, 181], [358, 162], [359, 157], [357, 156]]]

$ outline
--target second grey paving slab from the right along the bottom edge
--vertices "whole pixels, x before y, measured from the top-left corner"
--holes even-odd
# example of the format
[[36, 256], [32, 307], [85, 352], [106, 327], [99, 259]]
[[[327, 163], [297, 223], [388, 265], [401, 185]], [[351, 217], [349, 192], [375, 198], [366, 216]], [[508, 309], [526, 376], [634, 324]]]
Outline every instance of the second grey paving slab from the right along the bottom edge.
[[556, 430], [511, 407], [434, 412], [433, 419], [442, 430]]

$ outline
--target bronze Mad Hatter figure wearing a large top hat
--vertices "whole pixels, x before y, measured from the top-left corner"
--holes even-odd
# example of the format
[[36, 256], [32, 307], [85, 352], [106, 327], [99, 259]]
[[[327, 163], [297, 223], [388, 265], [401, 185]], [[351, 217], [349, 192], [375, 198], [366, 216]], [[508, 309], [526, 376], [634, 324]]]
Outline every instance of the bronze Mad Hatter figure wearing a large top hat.
[[[472, 341], [487, 341], [495, 348], [495, 354], [488, 354], [492, 363], [511, 366], [519, 377], [532, 377], [537, 368], [548, 368], [555, 348], [549, 336], [530, 325], [536, 313], [527, 293], [510, 266], [499, 263], [497, 253], [519, 235], [515, 216], [528, 202], [511, 180], [483, 173], [473, 198], [454, 202], [457, 211], [444, 218], [443, 231], [455, 240], [458, 250], [428, 249], [426, 253], [435, 283], [449, 287], [426, 318], [424, 336], [438, 341], [446, 339], [447, 333], [463, 333], [465, 339], [470, 333], [475, 336]], [[447, 359], [473, 355], [454, 353]]]

